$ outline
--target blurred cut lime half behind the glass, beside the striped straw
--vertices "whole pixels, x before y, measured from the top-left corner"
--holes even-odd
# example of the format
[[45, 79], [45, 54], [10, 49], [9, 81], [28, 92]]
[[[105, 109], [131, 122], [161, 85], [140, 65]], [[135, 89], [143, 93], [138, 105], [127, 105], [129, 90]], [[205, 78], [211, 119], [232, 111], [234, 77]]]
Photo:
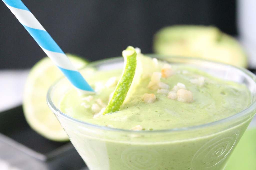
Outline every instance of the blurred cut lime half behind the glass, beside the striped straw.
[[[78, 69], [88, 63], [78, 56], [67, 56]], [[29, 72], [23, 98], [24, 115], [30, 127], [45, 138], [55, 141], [68, 140], [68, 135], [48, 107], [46, 95], [51, 84], [61, 76], [64, 76], [63, 73], [49, 57], [41, 59]]]

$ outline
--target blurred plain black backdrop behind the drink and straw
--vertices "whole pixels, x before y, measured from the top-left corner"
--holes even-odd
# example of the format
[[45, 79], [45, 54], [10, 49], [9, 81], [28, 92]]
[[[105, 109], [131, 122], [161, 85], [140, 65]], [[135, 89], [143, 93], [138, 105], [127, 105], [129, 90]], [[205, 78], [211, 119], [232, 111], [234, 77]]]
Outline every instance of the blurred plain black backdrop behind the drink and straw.
[[[65, 53], [90, 61], [132, 45], [152, 53], [153, 35], [175, 24], [214, 25], [237, 36], [231, 0], [23, 0]], [[0, 1], [0, 69], [31, 68], [46, 54]]]

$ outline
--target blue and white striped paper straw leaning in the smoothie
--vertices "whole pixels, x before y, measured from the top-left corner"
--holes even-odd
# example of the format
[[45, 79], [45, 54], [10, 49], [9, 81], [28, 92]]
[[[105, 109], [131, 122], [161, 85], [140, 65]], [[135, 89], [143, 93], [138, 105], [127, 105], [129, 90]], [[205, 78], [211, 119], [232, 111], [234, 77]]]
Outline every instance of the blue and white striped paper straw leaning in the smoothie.
[[66, 54], [52, 39], [50, 34], [39, 23], [36, 17], [20, 0], [2, 0], [13, 12], [20, 23], [26, 28], [38, 45], [45, 51], [50, 59], [59, 67], [68, 80], [85, 93], [94, 93], [91, 86], [84, 80], [81, 73], [73, 66]]

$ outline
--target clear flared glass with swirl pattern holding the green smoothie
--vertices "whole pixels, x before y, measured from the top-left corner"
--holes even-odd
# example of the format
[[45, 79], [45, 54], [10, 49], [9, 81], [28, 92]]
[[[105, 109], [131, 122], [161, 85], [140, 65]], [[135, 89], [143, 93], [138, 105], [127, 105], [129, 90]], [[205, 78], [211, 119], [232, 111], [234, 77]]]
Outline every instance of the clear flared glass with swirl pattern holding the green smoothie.
[[[48, 105], [90, 170], [224, 169], [255, 115], [255, 75], [246, 69], [203, 59], [152, 56], [242, 83], [251, 91], [251, 104], [233, 116], [198, 126], [156, 131], [114, 129], [82, 122], [63, 113], [58, 104], [72, 87], [63, 78], [50, 87]], [[116, 68], [123, 68], [123, 58], [94, 62], [84, 69], [88, 72]]]

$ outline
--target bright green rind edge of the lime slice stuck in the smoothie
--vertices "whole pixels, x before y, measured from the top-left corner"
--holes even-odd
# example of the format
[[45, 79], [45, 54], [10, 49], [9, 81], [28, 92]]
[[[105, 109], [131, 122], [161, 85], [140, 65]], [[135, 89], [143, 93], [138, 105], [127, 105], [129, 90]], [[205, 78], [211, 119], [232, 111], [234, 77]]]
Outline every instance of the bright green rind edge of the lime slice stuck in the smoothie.
[[103, 115], [118, 111], [131, 87], [137, 66], [137, 53], [135, 48], [132, 46], [127, 47], [126, 50], [123, 51], [123, 57], [124, 70], [121, 79], [119, 80], [115, 88], [113, 97], [111, 98], [105, 111], [103, 112]]

